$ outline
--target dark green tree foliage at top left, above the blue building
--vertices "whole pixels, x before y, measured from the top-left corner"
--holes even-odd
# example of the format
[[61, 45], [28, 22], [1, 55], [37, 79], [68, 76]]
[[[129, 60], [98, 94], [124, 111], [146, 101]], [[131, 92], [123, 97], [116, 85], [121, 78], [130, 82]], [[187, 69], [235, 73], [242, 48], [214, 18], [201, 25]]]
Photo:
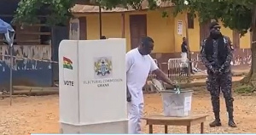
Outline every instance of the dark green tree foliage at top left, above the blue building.
[[73, 5], [72, 0], [21, 0], [13, 21], [32, 25], [40, 22], [38, 15], [45, 15], [48, 25], [67, 25]]

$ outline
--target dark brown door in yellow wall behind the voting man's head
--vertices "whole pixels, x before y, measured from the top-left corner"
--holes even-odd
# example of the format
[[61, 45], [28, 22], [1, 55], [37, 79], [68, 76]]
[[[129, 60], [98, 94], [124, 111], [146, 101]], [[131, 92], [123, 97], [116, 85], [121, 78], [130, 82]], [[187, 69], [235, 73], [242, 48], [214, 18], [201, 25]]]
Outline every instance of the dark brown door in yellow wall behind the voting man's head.
[[137, 48], [142, 37], [147, 37], [147, 15], [130, 15], [131, 49]]

